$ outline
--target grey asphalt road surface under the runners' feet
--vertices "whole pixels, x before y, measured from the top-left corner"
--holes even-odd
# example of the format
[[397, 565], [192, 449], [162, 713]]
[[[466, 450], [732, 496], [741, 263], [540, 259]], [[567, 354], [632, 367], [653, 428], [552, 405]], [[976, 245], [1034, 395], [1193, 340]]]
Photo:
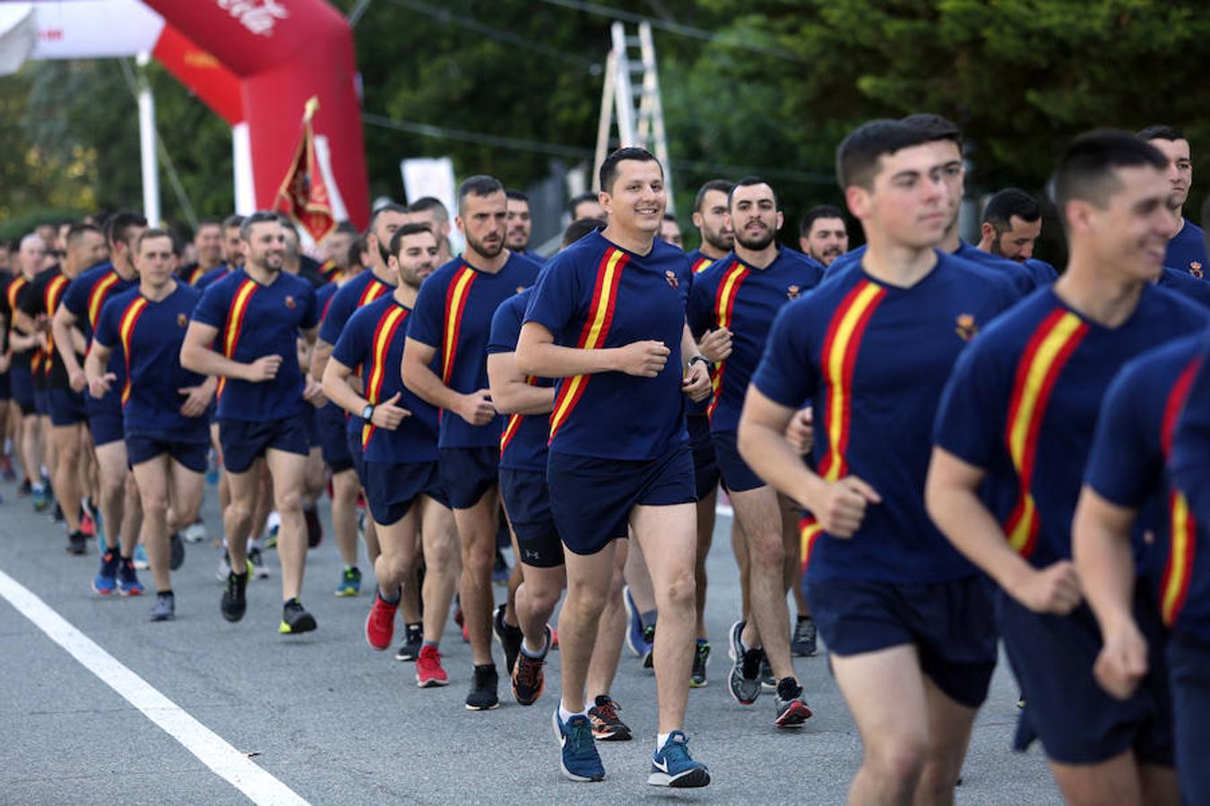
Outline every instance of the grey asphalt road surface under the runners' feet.
[[[190, 545], [174, 574], [177, 620], [150, 624], [151, 597], [103, 599], [91, 592], [94, 546], [87, 557], [68, 556], [60, 526], [34, 514], [12, 485], [0, 485], [0, 572], [312, 804], [840, 804], [860, 761], [857, 731], [823, 655], [795, 661], [816, 712], [802, 730], [773, 727], [768, 695], [751, 708], [727, 695], [726, 630], [739, 587], [726, 517], [719, 518], [709, 559], [710, 683], [691, 692], [687, 720], [691, 750], [710, 766], [714, 782], [678, 793], [646, 784], [655, 679], [629, 654], [613, 696], [636, 740], [601, 746], [605, 782], [571, 783], [559, 773], [549, 727], [558, 653], [547, 667], [551, 690], [537, 704], [518, 706], [502, 686], [500, 709], [471, 713], [462, 707], [469, 651], [451, 622], [442, 646], [451, 685], [417, 689], [410, 663], [367, 646], [369, 596], [332, 596], [340, 563], [330, 537], [307, 561], [302, 601], [318, 619], [315, 633], [277, 634], [272, 552], [273, 578], [249, 585], [244, 620], [223, 621], [214, 576], [220, 555], [211, 540]], [[213, 488], [203, 516], [217, 537]], [[150, 590], [150, 574], [142, 578]], [[502, 598], [503, 588], [496, 592]], [[0, 682], [2, 804], [248, 800], [2, 598]], [[960, 804], [1060, 802], [1038, 748], [1009, 748], [1015, 700], [1002, 663], [974, 730]]]

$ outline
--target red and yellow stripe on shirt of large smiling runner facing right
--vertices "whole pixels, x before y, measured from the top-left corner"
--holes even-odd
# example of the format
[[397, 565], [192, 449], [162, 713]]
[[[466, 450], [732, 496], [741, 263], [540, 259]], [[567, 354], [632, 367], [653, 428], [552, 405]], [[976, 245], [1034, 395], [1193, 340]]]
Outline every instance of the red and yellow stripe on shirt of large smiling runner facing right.
[[1004, 441], [1021, 489], [1012, 515], [1004, 522], [1004, 535], [1022, 557], [1033, 553], [1042, 521], [1033, 500], [1033, 463], [1038, 453], [1038, 431], [1047, 404], [1067, 359], [1088, 335], [1079, 317], [1055, 308], [1033, 331], [1016, 365], [1013, 398], [1008, 405]]

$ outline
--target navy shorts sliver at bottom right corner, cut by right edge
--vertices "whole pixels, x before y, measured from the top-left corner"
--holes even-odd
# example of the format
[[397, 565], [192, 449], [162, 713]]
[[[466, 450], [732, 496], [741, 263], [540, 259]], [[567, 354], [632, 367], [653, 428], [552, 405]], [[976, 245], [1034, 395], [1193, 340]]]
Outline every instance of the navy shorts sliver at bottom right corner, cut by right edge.
[[1210, 644], [1176, 634], [1168, 642], [1172, 711], [1176, 714], [1176, 773], [1186, 804], [1210, 804]]

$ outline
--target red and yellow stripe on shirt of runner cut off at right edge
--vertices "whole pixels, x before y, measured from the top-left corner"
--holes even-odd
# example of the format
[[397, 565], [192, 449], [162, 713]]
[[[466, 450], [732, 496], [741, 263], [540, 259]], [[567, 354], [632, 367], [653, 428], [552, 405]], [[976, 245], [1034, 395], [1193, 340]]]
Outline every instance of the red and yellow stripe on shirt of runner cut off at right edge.
[[[1185, 401], [1189, 396], [1189, 388], [1193, 378], [1202, 366], [1200, 356], [1189, 361], [1172, 390], [1168, 395], [1164, 405], [1164, 421], [1160, 425], [1160, 450], [1164, 460], [1172, 452], [1172, 434], [1176, 431], [1176, 421], [1185, 408]], [[1179, 489], [1172, 489], [1168, 495], [1168, 562], [1164, 563], [1164, 578], [1159, 586], [1159, 615], [1164, 625], [1171, 627], [1185, 607], [1185, 597], [1189, 592], [1189, 579], [1193, 572], [1193, 557], [1197, 551], [1198, 526], [1189, 511], [1189, 501]]]

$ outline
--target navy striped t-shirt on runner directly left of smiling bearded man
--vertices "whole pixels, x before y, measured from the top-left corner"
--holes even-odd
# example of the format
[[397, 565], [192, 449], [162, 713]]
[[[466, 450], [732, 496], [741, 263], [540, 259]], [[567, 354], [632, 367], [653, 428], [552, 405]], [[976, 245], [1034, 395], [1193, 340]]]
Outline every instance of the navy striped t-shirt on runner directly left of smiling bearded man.
[[159, 302], [136, 286], [110, 297], [102, 308], [93, 338], [114, 350], [127, 371], [120, 393], [127, 434], [171, 434], [180, 442], [209, 440], [208, 417], [182, 414], [188, 395], [178, 392], [206, 381], [180, 365], [189, 317], [201, 298], [197, 289], [178, 282]]

